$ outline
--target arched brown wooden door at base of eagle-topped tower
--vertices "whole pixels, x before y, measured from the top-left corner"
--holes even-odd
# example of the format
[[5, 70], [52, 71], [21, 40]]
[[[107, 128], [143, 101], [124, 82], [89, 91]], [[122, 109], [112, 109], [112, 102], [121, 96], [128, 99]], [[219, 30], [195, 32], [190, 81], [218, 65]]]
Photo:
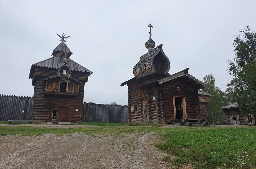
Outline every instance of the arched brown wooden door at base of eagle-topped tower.
[[64, 106], [52, 106], [49, 121], [68, 122], [68, 108]]

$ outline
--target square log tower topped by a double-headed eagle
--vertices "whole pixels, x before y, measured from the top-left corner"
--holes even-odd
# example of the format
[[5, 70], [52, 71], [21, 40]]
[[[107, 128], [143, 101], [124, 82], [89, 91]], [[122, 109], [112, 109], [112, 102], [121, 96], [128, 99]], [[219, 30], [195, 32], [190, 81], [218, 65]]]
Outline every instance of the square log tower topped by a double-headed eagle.
[[93, 72], [70, 59], [72, 52], [64, 40], [69, 36], [61, 35], [52, 57], [30, 68], [33, 121], [82, 122], [84, 83]]

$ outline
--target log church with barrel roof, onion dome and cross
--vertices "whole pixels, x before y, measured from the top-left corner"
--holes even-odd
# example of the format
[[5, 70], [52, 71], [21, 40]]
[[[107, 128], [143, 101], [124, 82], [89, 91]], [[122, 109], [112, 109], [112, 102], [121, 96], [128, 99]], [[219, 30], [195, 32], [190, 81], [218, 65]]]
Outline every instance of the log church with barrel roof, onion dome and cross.
[[188, 68], [168, 74], [170, 61], [163, 44], [155, 48], [150, 37], [147, 53], [133, 67], [134, 78], [123, 82], [128, 86], [129, 124], [171, 123], [173, 119], [200, 119], [198, 90], [208, 88], [188, 74]]

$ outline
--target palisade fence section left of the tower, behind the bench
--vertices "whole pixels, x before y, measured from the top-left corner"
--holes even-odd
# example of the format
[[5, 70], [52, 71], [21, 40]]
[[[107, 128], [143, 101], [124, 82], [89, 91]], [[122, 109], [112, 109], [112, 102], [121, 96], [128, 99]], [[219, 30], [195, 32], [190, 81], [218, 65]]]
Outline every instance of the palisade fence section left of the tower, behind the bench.
[[0, 121], [31, 120], [32, 114], [33, 97], [0, 95]]

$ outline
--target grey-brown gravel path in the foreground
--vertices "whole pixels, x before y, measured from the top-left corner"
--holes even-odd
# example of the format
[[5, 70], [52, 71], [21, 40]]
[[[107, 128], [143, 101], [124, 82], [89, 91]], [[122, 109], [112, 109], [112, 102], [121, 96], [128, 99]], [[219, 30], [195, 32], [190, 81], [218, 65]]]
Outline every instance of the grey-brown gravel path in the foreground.
[[152, 134], [0, 136], [0, 168], [171, 168]]

